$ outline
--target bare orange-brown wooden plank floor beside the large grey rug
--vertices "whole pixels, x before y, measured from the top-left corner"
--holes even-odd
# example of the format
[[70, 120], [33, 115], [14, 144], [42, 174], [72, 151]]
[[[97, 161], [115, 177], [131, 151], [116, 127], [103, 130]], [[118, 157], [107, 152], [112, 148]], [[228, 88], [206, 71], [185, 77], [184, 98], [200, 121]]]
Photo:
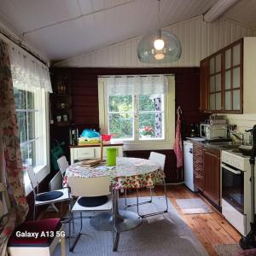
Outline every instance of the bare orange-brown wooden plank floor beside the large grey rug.
[[[129, 194], [129, 196], [134, 195], [135, 193]], [[140, 195], [148, 195], [148, 189], [141, 190]], [[155, 188], [154, 195], [164, 195], [162, 187]], [[168, 185], [167, 195], [183, 221], [189, 225], [209, 255], [218, 255], [213, 249], [214, 245], [237, 243], [241, 238], [241, 235], [210, 204], [213, 213], [183, 214], [181, 212], [175, 200], [201, 197], [198, 193], [192, 193], [184, 185]], [[65, 212], [67, 212], [67, 207], [62, 207], [62, 213]], [[56, 218], [59, 215], [58, 212], [42, 212], [39, 218]]]

